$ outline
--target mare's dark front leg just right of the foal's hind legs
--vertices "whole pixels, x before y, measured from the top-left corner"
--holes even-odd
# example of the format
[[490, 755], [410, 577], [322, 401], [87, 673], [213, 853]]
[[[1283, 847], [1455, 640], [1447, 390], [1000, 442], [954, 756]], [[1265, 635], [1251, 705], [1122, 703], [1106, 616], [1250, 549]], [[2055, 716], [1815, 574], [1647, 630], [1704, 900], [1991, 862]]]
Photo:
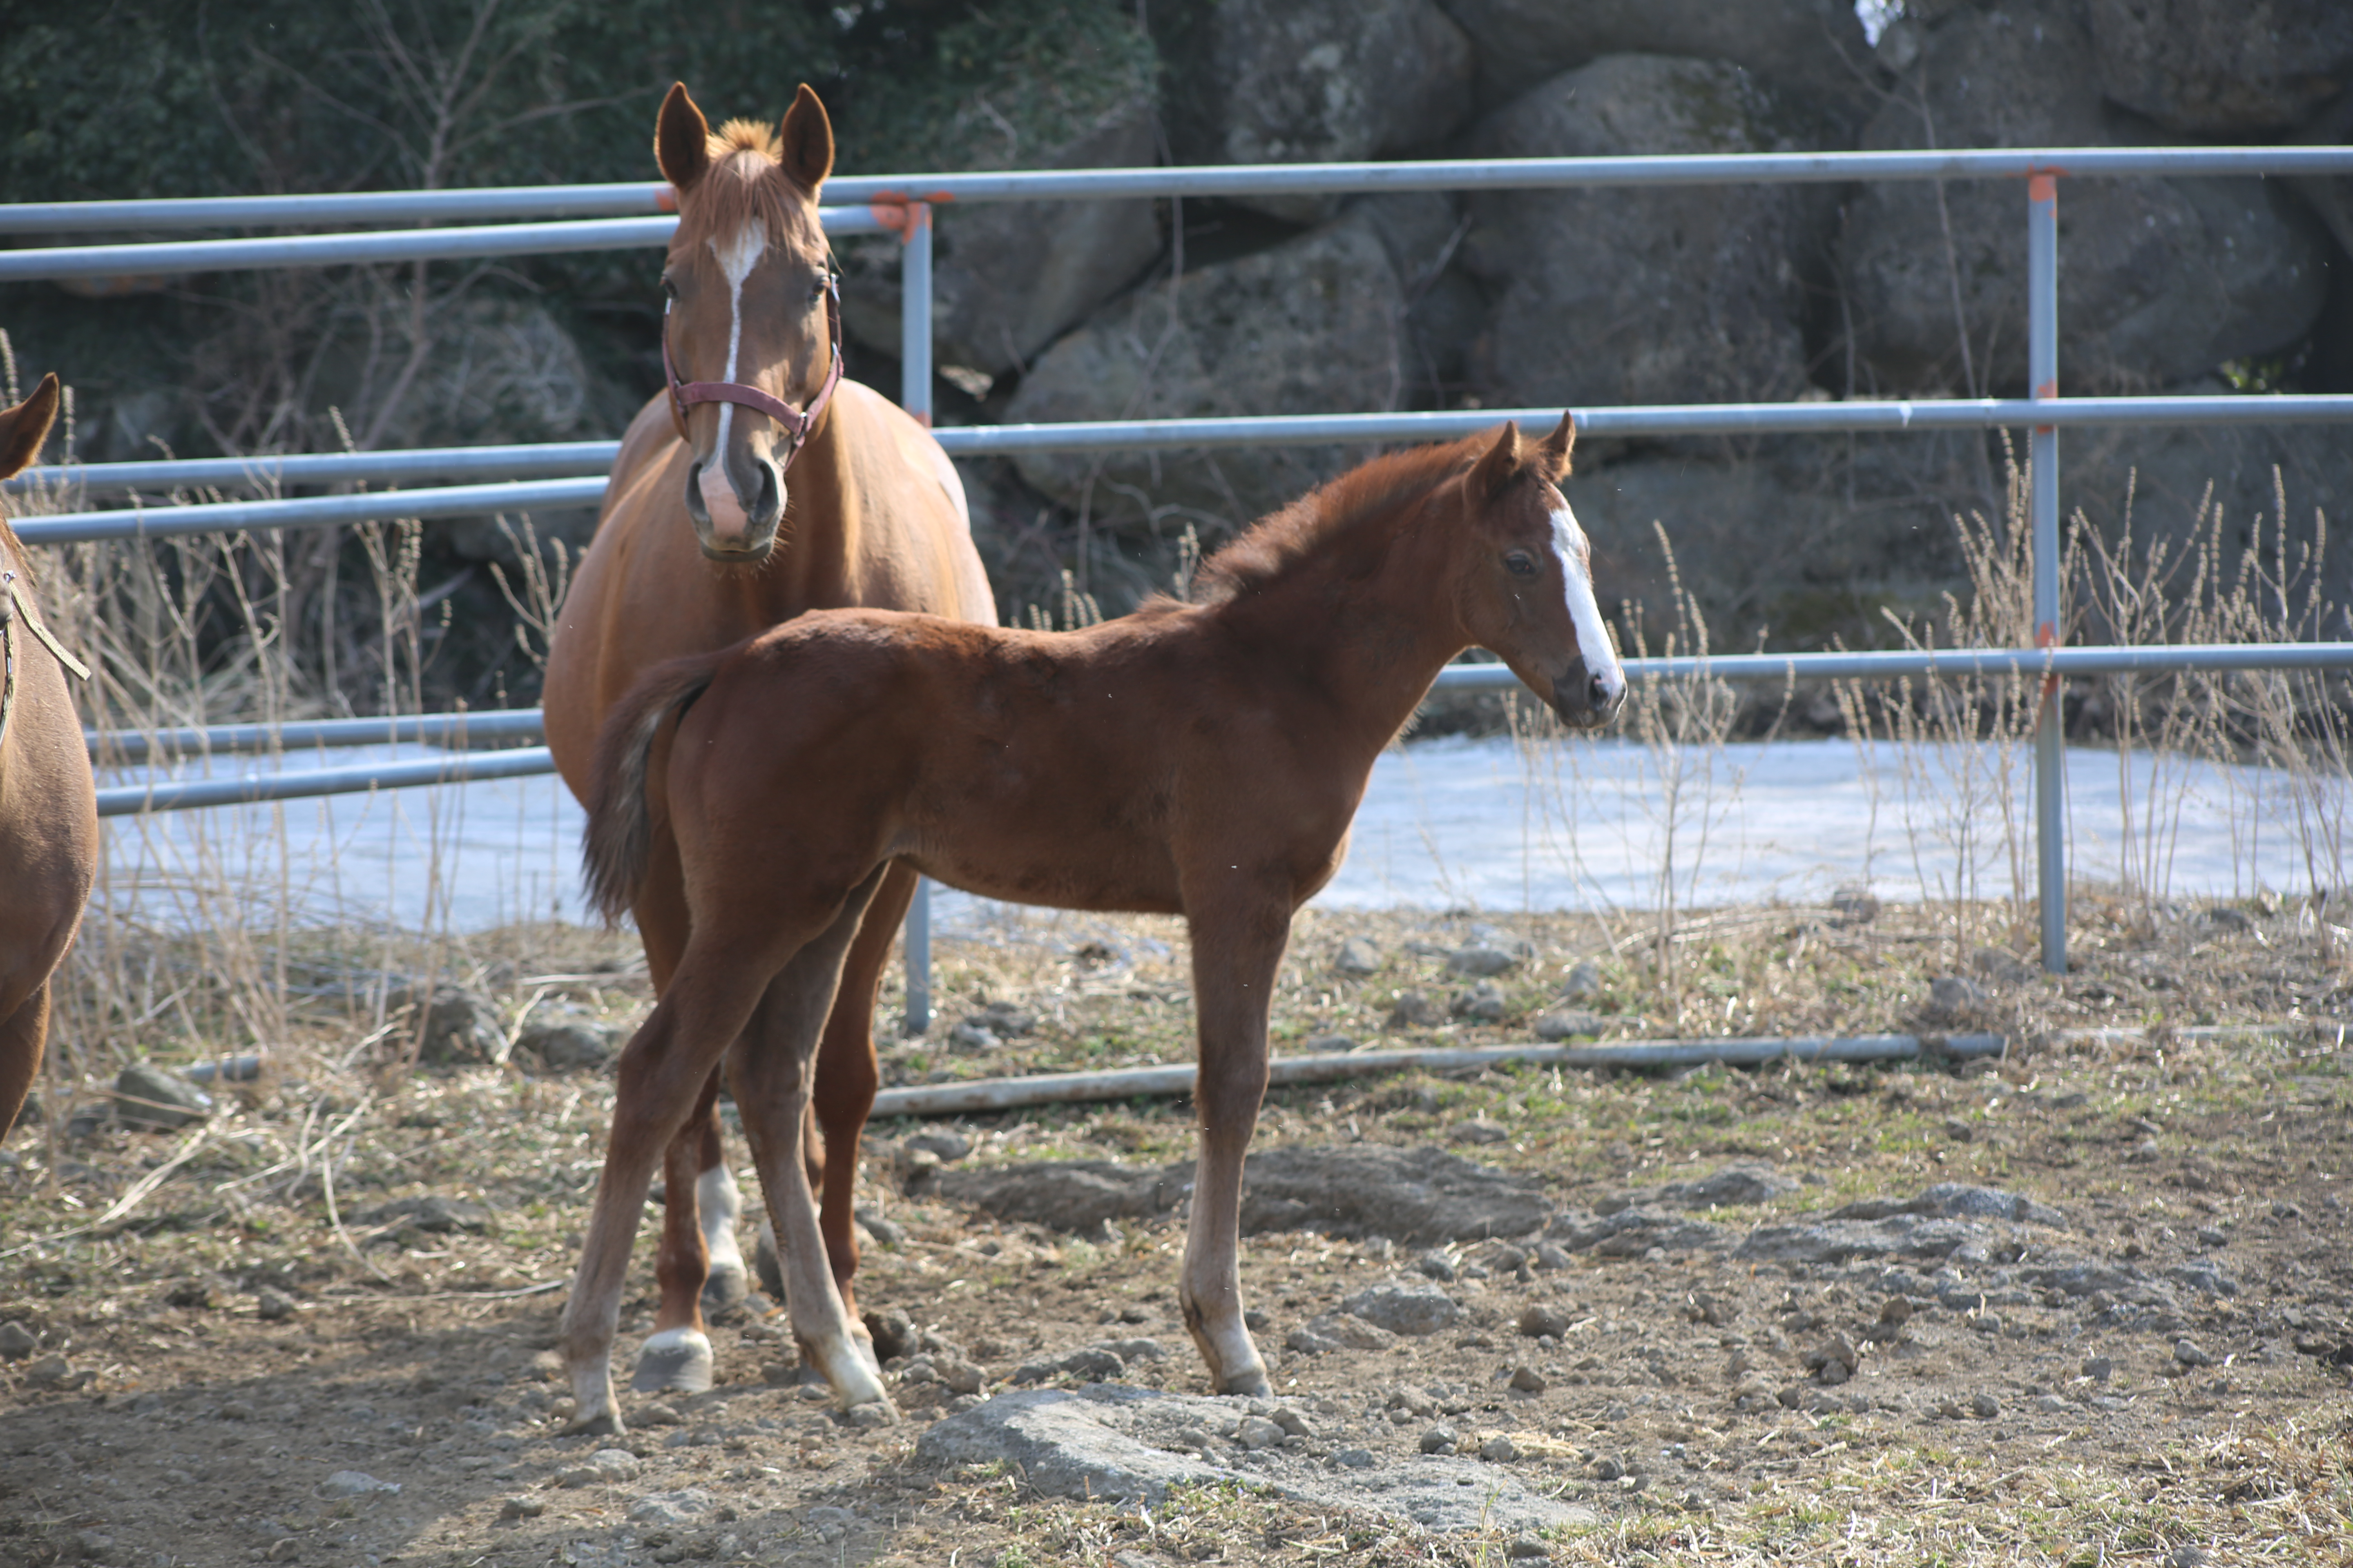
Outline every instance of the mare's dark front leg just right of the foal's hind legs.
[[875, 994], [882, 987], [882, 966], [889, 961], [892, 940], [906, 905], [915, 898], [915, 872], [892, 865], [859, 936], [849, 943], [849, 959], [842, 964], [842, 985], [833, 994], [833, 1013], [826, 1018], [826, 1034], [816, 1046], [816, 1088], [812, 1107], [821, 1152], [809, 1161], [812, 1180], [821, 1180], [819, 1229], [826, 1237], [826, 1262], [833, 1265], [833, 1284], [842, 1293], [849, 1312], [849, 1333], [873, 1359], [873, 1335], [859, 1321], [859, 1298], [852, 1276], [859, 1272], [856, 1241], [856, 1185], [859, 1185], [859, 1138], [866, 1133], [866, 1114], [875, 1107], [875, 1086], [882, 1074], [875, 1065]]

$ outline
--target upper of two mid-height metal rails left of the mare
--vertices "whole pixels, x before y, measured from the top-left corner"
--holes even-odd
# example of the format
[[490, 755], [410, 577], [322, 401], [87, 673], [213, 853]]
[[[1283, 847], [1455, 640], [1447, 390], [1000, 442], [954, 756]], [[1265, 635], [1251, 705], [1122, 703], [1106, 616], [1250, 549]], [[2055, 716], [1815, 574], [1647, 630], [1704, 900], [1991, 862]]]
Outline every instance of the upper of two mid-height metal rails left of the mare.
[[26, 468], [0, 491], [78, 487], [89, 496], [132, 489], [242, 489], [261, 484], [398, 484], [402, 480], [541, 480], [602, 475], [621, 442], [536, 442], [515, 447], [402, 447], [393, 451], [266, 451], [249, 458], [155, 463], [64, 463]]

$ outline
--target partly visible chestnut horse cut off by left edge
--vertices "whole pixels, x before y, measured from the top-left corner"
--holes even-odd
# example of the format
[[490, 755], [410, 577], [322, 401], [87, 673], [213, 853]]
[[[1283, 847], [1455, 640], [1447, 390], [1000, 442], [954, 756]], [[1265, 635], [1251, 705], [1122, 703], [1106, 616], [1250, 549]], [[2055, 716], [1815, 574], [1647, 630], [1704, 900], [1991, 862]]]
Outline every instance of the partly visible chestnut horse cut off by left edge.
[[[21, 473], [56, 418], [56, 376], [0, 409], [0, 480]], [[33, 602], [33, 571], [0, 520], [0, 1138], [16, 1124], [49, 1037], [49, 971], [66, 957], [99, 865], [99, 799], [82, 719]]]

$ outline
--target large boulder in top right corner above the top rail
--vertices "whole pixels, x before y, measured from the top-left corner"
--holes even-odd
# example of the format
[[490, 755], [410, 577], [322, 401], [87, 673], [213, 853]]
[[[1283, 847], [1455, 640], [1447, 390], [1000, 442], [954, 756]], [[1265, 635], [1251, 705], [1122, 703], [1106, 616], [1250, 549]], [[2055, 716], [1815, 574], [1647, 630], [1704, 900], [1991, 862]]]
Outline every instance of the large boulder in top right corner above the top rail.
[[2085, 0], [2099, 89], [2177, 132], [2301, 125], [2353, 87], [2346, 0]]

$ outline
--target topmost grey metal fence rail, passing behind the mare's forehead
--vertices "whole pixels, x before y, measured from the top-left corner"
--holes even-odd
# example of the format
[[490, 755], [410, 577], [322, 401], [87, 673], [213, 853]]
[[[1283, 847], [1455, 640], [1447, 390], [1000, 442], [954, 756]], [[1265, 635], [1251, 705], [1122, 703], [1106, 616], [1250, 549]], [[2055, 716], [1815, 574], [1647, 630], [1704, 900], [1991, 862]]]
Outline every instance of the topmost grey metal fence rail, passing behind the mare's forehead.
[[[2075, 179], [2134, 174], [2346, 174], [2348, 148], [1977, 148], [1889, 153], [1701, 153], [1628, 158], [1492, 158], [1426, 162], [1292, 162], [1174, 169], [1038, 169], [984, 174], [842, 174], [835, 205], [1073, 202], [1158, 195], [1353, 195], [1379, 190], [1541, 190], [1574, 186], [1847, 183], [1866, 179]], [[454, 223], [673, 212], [666, 183], [513, 186], [468, 190], [336, 190], [207, 195], [141, 202], [0, 205], [0, 235], [125, 228], [306, 228], [327, 223]]]

